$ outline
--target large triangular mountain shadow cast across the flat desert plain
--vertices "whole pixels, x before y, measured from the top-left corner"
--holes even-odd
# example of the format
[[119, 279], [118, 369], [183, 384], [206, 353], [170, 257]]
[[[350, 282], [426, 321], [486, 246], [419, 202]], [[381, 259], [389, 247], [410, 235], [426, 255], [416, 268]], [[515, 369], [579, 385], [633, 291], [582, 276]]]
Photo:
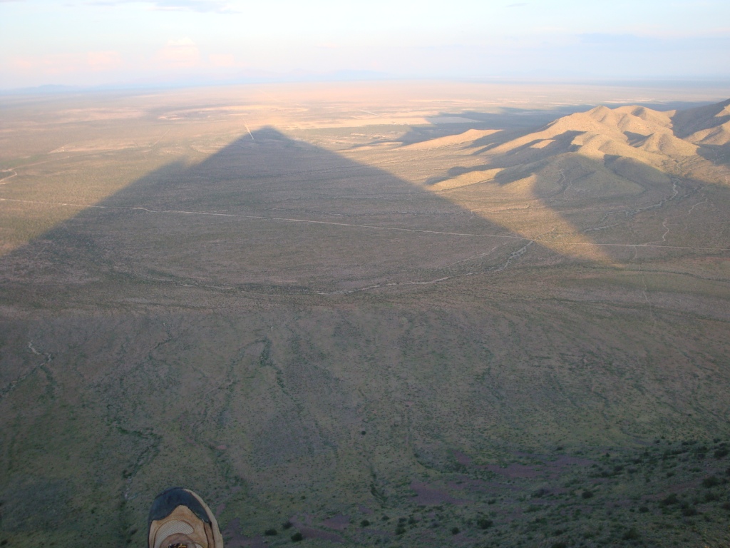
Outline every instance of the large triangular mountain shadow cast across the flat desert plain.
[[526, 243], [388, 172], [264, 128], [83, 210], [0, 259], [0, 276], [18, 299], [28, 284], [104, 280], [337, 292], [429, 281], [495, 247], [477, 266], [498, 267]]

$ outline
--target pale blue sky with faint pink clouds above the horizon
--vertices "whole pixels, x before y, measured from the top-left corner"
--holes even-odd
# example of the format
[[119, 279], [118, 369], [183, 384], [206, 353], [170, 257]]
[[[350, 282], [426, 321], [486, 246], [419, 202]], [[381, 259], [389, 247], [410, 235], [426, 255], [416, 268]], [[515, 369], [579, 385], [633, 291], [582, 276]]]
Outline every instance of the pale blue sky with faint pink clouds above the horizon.
[[0, 0], [0, 88], [389, 77], [730, 78], [730, 2]]

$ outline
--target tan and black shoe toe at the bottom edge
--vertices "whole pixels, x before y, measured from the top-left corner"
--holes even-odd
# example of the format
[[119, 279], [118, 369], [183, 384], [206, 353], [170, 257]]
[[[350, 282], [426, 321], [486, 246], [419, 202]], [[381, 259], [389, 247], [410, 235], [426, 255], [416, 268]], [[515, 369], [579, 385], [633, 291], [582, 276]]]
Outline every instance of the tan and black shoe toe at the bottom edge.
[[172, 487], [157, 495], [147, 523], [149, 548], [223, 548], [215, 516], [189, 489]]

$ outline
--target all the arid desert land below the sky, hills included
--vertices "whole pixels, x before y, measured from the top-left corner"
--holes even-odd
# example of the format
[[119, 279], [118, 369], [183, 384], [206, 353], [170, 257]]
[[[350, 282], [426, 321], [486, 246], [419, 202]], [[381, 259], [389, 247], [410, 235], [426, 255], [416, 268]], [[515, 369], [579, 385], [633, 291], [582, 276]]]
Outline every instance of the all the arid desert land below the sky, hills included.
[[0, 96], [0, 545], [728, 546], [729, 96]]

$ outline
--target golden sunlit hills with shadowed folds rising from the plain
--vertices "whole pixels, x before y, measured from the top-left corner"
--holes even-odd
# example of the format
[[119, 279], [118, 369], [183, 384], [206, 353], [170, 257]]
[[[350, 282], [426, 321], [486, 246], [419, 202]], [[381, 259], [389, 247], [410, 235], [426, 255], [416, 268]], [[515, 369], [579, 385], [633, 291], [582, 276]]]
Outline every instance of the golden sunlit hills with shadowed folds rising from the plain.
[[[666, 112], [599, 106], [507, 141], [493, 131], [472, 129], [410, 146], [449, 145], [477, 148], [488, 164], [435, 181], [437, 188], [488, 180], [502, 185], [527, 179], [544, 184], [556, 180], [556, 172], [580, 181], [584, 197], [631, 194], [633, 183], [668, 182], [667, 173], [718, 183], [724, 182], [723, 164], [730, 161], [730, 99]], [[533, 190], [540, 194], [539, 185]]]

